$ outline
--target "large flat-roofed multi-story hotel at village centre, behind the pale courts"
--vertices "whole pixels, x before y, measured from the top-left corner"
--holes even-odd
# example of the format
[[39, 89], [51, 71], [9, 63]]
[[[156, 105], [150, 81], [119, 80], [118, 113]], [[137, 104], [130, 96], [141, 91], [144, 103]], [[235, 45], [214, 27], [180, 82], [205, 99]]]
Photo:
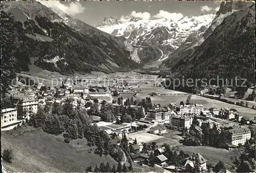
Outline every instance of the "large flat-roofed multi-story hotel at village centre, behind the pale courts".
[[158, 124], [169, 123], [170, 114], [170, 108], [155, 108], [147, 111], [146, 119], [155, 120]]

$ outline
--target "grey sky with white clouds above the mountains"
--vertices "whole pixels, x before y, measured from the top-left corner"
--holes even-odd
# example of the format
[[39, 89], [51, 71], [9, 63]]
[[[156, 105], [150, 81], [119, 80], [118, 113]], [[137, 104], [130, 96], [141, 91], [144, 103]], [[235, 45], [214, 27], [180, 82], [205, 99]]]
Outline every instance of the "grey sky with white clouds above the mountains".
[[131, 17], [143, 19], [167, 18], [178, 20], [183, 16], [196, 16], [203, 13], [216, 13], [220, 3], [217, 1], [38, 1], [47, 7], [59, 8], [73, 18], [96, 26], [105, 17], [115, 17], [126, 21]]

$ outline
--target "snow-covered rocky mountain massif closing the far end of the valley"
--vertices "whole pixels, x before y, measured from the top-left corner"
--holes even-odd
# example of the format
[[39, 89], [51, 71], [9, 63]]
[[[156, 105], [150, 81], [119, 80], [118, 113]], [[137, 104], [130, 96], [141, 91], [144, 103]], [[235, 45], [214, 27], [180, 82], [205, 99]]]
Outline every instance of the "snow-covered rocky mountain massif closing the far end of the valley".
[[[178, 21], [166, 18], [145, 20], [133, 17], [123, 23], [118, 23], [118, 20], [112, 17], [104, 19], [97, 28], [129, 40], [132, 45], [138, 47], [138, 54], [143, 63], [154, 61], [161, 63], [186, 42], [190, 34], [195, 32], [202, 34], [206, 29], [205, 26], [208, 26], [214, 16], [214, 14], [186, 16]], [[190, 38], [197, 39], [197, 35], [191, 35]]]

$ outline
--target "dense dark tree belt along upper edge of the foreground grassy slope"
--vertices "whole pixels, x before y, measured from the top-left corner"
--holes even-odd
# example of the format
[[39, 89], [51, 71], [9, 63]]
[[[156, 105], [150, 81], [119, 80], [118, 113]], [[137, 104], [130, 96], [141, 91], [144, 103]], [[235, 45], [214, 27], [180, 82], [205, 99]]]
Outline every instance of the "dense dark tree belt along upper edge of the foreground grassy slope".
[[63, 133], [65, 142], [72, 139], [86, 138], [89, 146], [96, 146], [95, 154], [111, 155], [116, 161], [121, 161], [123, 152], [119, 146], [113, 145], [112, 139], [94, 123], [82, 109], [73, 109], [72, 98], [68, 98], [62, 106], [56, 102], [39, 109], [29, 121], [35, 128], [42, 128], [49, 134], [59, 135]]

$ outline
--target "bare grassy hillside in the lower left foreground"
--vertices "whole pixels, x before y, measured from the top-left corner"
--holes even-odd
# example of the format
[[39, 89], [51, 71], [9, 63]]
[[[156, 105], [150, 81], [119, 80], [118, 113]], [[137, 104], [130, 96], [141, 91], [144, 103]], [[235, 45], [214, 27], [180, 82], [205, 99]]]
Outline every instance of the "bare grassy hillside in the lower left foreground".
[[[21, 135], [12, 136], [2, 132], [2, 151], [13, 150], [13, 162], [3, 161], [7, 171], [23, 172], [83, 172], [89, 165], [94, 168], [108, 161], [117, 165], [110, 156], [98, 156], [92, 147], [86, 145], [86, 139], [77, 139], [70, 144], [63, 142], [62, 136], [49, 135], [39, 129], [32, 129]], [[77, 144], [79, 142], [79, 144]]]

